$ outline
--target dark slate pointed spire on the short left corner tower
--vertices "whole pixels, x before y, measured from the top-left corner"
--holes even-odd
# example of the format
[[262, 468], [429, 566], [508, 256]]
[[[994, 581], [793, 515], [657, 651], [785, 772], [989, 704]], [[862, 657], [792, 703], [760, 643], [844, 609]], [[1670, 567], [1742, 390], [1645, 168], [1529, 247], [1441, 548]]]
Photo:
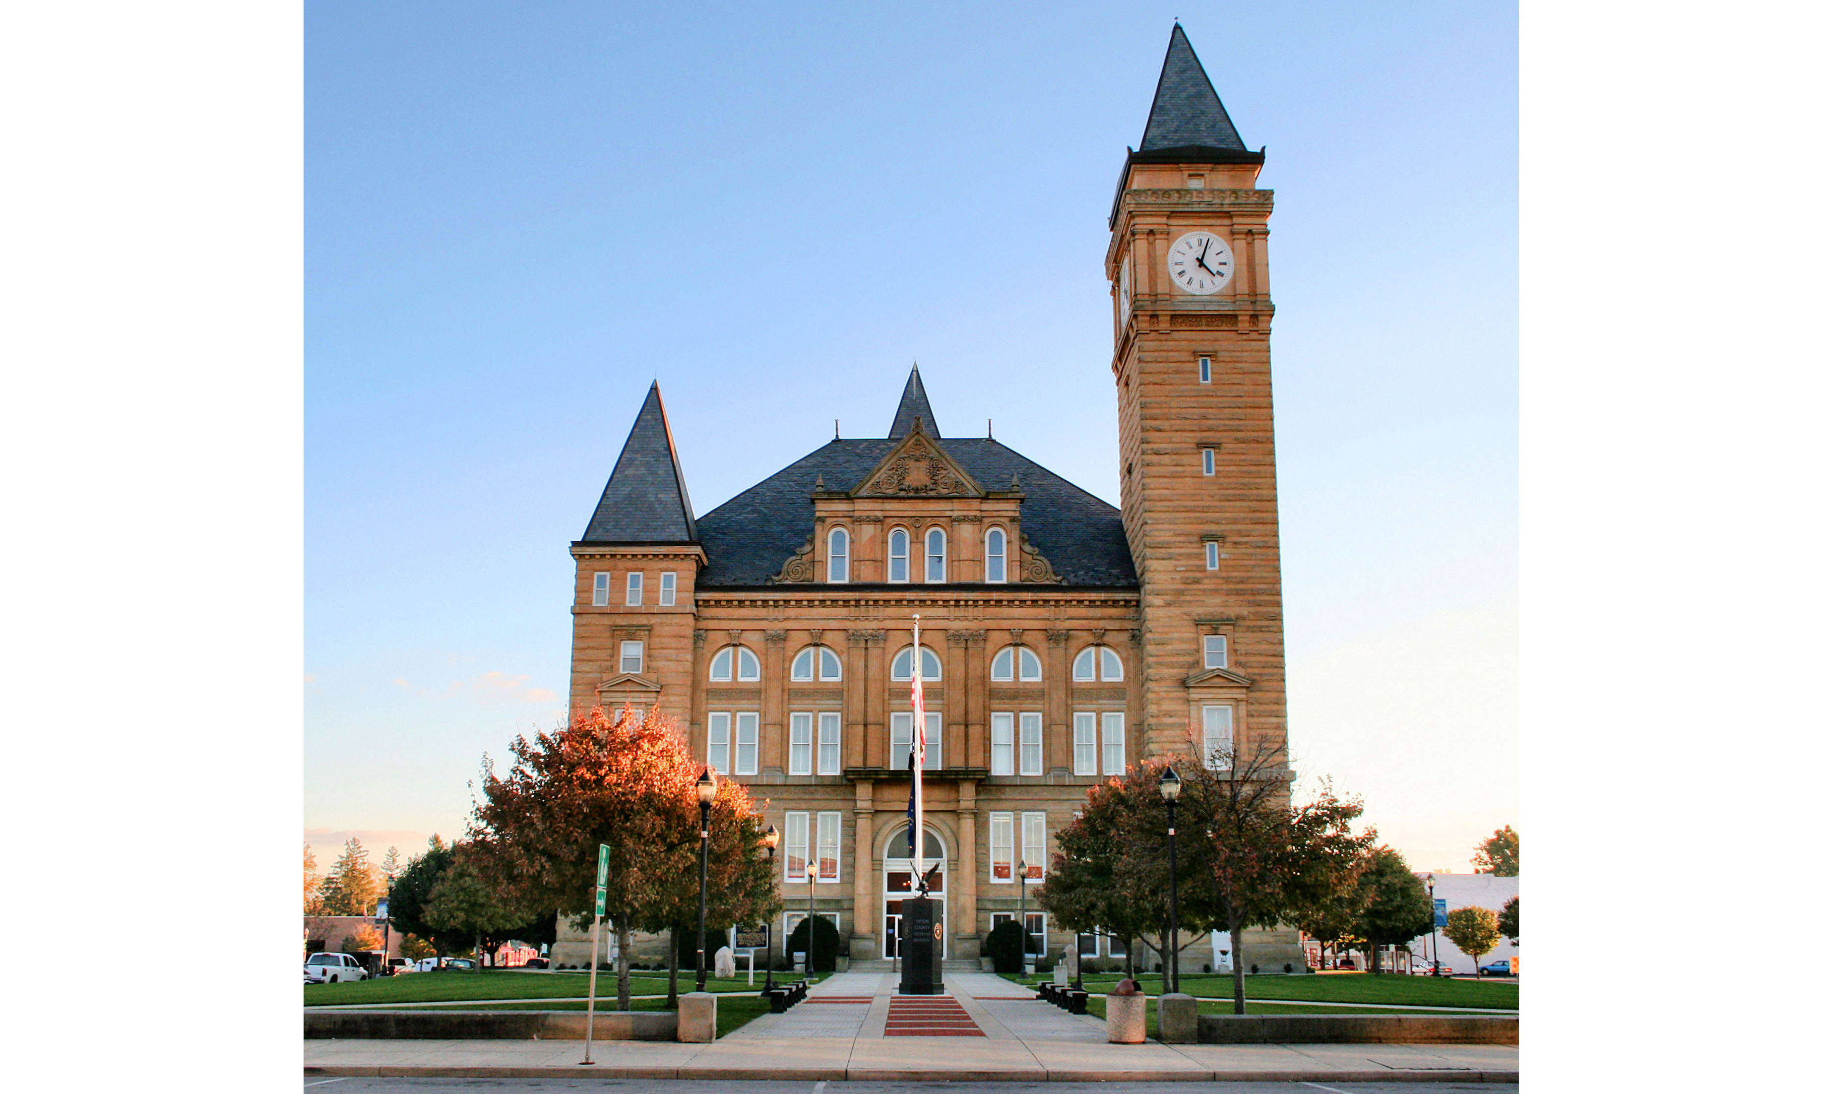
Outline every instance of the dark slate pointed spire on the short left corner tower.
[[645, 392], [645, 405], [633, 419], [633, 432], [620, 449], [614, 474], [607, 478], [583, 542], [664, 543], [693, 542], [696, 514], [684, 487], [684, 469], [671, 439], [658, 381]]

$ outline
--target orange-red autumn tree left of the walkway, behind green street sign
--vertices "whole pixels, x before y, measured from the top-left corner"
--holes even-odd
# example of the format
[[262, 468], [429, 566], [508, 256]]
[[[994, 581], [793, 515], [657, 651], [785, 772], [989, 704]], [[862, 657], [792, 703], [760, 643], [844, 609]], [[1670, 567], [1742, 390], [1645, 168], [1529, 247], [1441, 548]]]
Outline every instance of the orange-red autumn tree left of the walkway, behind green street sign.
[[[602, 707], [510, 746], [505, 775], [485, 762], [483, 797], [469, 826], [474, 862], [527, 908], [594, 919], [596, 846], [611, 848], [607, 919], [620, 939], [618, 1006], [631, 1008], [633, 932], [660, 932], [696, 915], [702, 768], [675, 718]], [[760, 844], [747, 790], [716, 784], [709, 810], [709, 923], [764, 923], [784, 903]]]

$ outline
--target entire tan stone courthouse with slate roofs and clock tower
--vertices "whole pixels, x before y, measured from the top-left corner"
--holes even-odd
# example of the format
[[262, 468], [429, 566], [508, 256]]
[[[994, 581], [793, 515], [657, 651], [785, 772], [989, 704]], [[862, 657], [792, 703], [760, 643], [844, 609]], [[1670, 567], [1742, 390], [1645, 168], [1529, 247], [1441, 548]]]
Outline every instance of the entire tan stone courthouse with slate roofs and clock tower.
[[[1072, 941], [1034, 897], [1097, 780], [1165, 751], [1283, 744], [1262, 162], [1174, 27], [1108, 217], [1119, 509], [992, 438], [946, 436], [913, 366], [882, 436], [833, 439], [696, 516], [647, 392], [571, 545], [571, 704], [662, 704], [767, 802], [775, 937], [817, 862], [850, 955], [891, 954], [913, 656], [952, 959], [1017, 915], [1021, 862], [1034, 934], [1052, 954]], [[1302, 961], [1294, 932], [1249, 955]]]

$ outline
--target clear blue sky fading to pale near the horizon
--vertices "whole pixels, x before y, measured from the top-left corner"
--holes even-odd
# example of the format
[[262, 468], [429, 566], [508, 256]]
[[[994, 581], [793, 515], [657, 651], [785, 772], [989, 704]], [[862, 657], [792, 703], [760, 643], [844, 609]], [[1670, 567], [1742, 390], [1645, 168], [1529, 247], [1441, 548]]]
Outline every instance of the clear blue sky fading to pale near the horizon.
[[1420, 868], [1519, 822], [1509, 4], [304, 16], [306, 831], [414, 851], [556, 722], [653, 377], [698, 514], [884, 434], [913, 359], [1117, 501], [1101, 257], [1174, 16], [1278, 195], [1298, 766]]

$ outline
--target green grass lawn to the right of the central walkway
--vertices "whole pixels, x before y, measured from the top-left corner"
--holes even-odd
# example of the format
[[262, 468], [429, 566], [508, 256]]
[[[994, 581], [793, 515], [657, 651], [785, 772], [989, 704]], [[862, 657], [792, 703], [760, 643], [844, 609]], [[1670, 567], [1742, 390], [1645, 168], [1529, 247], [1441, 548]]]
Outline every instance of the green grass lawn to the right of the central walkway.
[[[1028, 975], [1025, 979], [1008, 975], [1006, 979], [1037, 986], [1050, 977]], [[1147, 996], [1159, 994], [1159, 975], [1148, 974], [1134, 977]], [[1119, 974], [1097, 972], [1083, 975], [1083, 988], [1088, 992], [1107, 992], [1121, 983]], [[1185, 975], [1183, 990], [1198, 999], [1232, 999], [1234, 977], [1229, 975]], [[1378, 1003], [1384, 1006], [1484, 1006], [1489, 1010], [1519, 1010], [1519, 985], [1513, 981], [1458, 981], [1427, 975], [1249, 975], [1247, 1008], [1271, 999], [1309, 999], [1313, 1003]], [[1090, 1001], [1094, 1005], [1094, 1001]], [[1311, 1012], [1323, 1014], [1371, 1014], [1356, 1006], [1311, 1006]], [[1287, 1014], [1285, 1008], [1278, 1008]], [[1229, 1010], [1203, 1010], [1201, 1014], [1229, 1014]], [[1262, 1014], [1267, 1010], [1262, 1008]]]

